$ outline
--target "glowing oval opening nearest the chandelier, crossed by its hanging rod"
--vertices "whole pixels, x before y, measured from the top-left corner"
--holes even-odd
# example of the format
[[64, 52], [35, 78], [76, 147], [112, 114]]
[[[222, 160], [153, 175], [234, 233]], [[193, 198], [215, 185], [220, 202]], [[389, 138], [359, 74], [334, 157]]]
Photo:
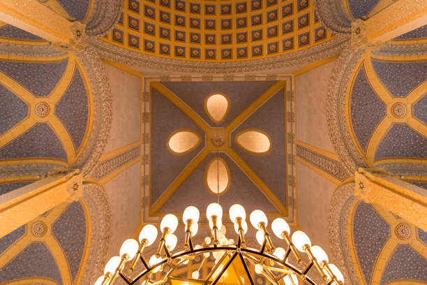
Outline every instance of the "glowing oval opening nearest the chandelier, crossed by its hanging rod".
[[215, 195], [227, 191], [230, 187], [230, 170], [224, 159], [215, 158], [209, 162], [204, 175], [204, 182], [207, 189]]

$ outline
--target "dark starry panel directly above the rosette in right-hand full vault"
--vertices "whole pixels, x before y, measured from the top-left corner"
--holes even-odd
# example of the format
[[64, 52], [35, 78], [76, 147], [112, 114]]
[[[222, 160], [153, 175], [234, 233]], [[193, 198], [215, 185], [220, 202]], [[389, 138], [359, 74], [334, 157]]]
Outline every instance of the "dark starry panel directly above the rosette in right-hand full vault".
[[375, 73], [391, 94], [407, 96], [412, 89], [426, 80], [427, 61], [387, 62], [371, 59]]

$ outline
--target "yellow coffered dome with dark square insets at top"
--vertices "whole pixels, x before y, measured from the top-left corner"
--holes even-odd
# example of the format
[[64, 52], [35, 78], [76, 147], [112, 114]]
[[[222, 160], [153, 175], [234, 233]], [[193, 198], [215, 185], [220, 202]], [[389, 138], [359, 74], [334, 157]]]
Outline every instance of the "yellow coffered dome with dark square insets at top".
[[333, 38], [312, 0], [126, 0], [103, 41], [195, 61], [238, 61], [303, 50]]

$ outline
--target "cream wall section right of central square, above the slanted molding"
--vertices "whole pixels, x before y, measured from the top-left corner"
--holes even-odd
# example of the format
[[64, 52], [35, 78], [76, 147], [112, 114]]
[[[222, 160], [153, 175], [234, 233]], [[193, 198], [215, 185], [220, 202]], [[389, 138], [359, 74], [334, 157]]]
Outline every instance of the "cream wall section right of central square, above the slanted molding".
[[297, 76], [297, 140], [335, 152], [329, 140], [326, 99], [336, 60]]

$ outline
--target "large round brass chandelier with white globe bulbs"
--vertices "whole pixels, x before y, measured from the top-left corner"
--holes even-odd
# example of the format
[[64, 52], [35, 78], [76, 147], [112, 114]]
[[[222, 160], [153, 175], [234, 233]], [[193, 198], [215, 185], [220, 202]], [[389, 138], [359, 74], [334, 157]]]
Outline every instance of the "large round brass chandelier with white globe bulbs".
[[[193, 247], [192, 238], [197, 234], [200, 212], [196, 207], [187, 207], [183, 212], [182, 220], [185, 226], [185, 238], [183, 240], [183, 251], [172, 253], [177, 247], [178, 238], [174, 235], [177, 230], [178, 219], [173, 214], [166, 214], [160, 222], [162, 233], [156, 254], [145, 260], [143, 251], [151, 246], [158, 235], [158, 230], [153, 225], [146, 225], [139, 235], [139, 242], [133, 239], [125, 240], [120, 248], [119, 256], [113, 256], [105, 265], [104, 275], [100, 276], [95, 285], [112, 285], [120, 277], [126, 284], [163, 285], [169, 282], [171, 285], [216, 285], [216, 284], [248, 284], [255, 285], [250, 274], [250, 266], [257, 275], [265, 277], [267, 282], [273, 285], [299, 285], [301, 280], [313, 285], [343, 285], [344, 277], [336, 265], [329, 263], [329, 258], [324, 250], [311, 244], [310, 238], [302, 232], [295, 231], [290, 236], [290, 226], [284, 219], [274, 219], [271, 230], [280, 240], [285, 240], [285, 246], [274, 247], [271, 236], [267, 231], [267, 215], [261, 210], [253, 211], [250, 216], [250, 224], [257, 230], [256, 240], [260, 249], [246, 247], [245, 234], [248, 231], [246, 223], [246, 211], [241, 205], [230, 207], [230, 220], [237, 233], [237, 243], [225, 237], [225, 226], [223, 226], [223, 208], [218, 203], [208, 205], [207, 219], [211, 236], [204, 238], [203, 244]], [[164, 255], [162, 253], [164, 251]], [[308, 264], [304, 265], [300, 252], [308, 256]], [[289, 261], [293, 254], [300, 264], [298, 269]], [[202, 261], [191, 274], [191, 278], [184, 278], [176, 274], [177, 268], [187, 265], [190, 260], [200, 256]], [[213, 268], [200, 274], [202, 266], [208, 258], [215, 259]], [[306, 260], [306, 259], [305, 259]], [[125, 272], [125, 265], [132, 261]], [[137, 263], [142, 263], [140, 272], [134, 272]], [[161, 277], [155, 278], [157, 272], [168, 264], [168, 270], [162, 272]], [[308, 276], [310, 270], [320, 273], [322, 279], [313, 279]], [[319, 281], [321, 280], [321, 281]]]

